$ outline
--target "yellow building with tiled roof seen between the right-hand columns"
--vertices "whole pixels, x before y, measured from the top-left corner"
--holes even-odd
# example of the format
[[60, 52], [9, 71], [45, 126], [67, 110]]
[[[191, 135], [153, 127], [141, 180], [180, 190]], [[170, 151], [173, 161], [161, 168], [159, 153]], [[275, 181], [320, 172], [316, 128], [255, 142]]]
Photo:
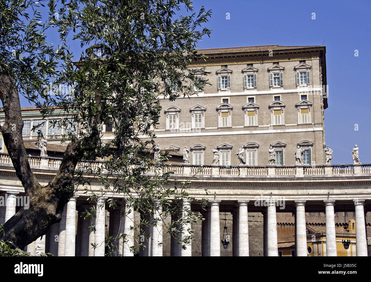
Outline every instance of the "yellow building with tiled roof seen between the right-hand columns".
[[[344, 248], [342, 240], [344, 239], [344, 223], [336, 223], [336, 251], [338, 256], [357, 256], [355, 248], [355, 220], [348, 222], [348, 239], [350, 245], [348, 249]], [[326, 224], [325, 223], [306, 223], [307, 232], [307, 254], [308, 256], [326, 256]], [[347, 240], [348, 240], [347, 239]], [[295, 241], [278, 242], [279, 256], [295, 256]]]

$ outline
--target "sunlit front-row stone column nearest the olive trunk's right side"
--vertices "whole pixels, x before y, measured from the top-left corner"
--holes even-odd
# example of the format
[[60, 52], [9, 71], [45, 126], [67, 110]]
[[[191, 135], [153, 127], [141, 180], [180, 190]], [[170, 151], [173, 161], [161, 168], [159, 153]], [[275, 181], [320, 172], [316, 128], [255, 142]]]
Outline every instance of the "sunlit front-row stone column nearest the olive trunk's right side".
[[65, 256], [75, 256], [76, 249], [76, 200], [79, 196], [73, 196], [67, 203]]

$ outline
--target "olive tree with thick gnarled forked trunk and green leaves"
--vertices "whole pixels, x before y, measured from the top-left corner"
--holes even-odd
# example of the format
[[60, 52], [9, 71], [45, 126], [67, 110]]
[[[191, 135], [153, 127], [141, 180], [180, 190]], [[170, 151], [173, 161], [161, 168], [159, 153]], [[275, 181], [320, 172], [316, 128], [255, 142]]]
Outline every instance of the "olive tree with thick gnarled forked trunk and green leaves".
[[[21, 208], [4, 224], [0, 239], [12, 248], [23, 248], [45, 235], [60, 221], [63, 207], [78, 187], [84, 187], [91, 201], [109, 195], [106, 204], [111, 208], [117, 205], [112, 195], [124, 197], [127, 207], [152, 218], [142, 220], [139, 228], [162, 224], [161, 215], [171, 215], [174, 220], [165, 228], [176, 237], [184, 233], [183, 223], [202, 219], [200, 213], [183, 210], [183, 200], [197, 200], [189, 194], [188, 181], [171, 177], [169, 156], [154, 160], [156, 136], [150, 129], [158, 124], [160, 97], [174, 101], [208, 83], [198, 80], [189, 66], [204, 58], [197, 53], [197, 43], [210, 35], [203, 27], [210, 11], [202, 7], [194, 13], [188, 0], [62, 0], [49, 1], [48, 7], [43, 1], [0, 1], [0, 45], [6, 46], [0, 50], [5, 113], [0, 129], [16, 175], [30, 196], [29, 208]], [[47, 19], [39, 8], [47, 10]], [[59, 34], [58, 46], [47, 42], [52, 32]], [[79, 53], [72, 52], [69, 44], [79, 44]], [[47, 85], [59, 84], [72, 86], [73, 91], [45, 91]], [[68, 145], [47, 185], [40, 185], [27, 159], [20, 95], [44, 118], [56, 109], [69, 117], [58, 125], [66, 129], [62, 142]], [[102, 142], [102, 125], [112, 126], [112, 139]], [[104, 165], [92, 169], [97, 159], [104, 159]], [[77, 167], [79, 162], [85, 165]], [[148, 173], [150, 168], [154, 174]], [[99, 193], [89, 188], [91, 181], [101, 183]], [[206, 204], [204, 199], [198, 202], [201, 208]], [[156, 213], [160, 207], [162, 213]], [[84, 216], [94, 216], [94, 208]], [[190, 235], [178, 238], [183, 248], [193, 237], [188, 231]], [[108, 254], [126, 236], [108, 238]]]

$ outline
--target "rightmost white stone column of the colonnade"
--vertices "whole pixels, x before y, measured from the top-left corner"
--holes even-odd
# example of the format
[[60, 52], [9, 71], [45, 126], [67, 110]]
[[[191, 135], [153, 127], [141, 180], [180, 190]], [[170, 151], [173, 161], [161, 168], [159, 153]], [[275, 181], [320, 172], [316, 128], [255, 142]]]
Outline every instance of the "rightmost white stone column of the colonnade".
[[364, 200], [353, 200], [355, 205], [355, 241], [357, 256], [368, 256]]

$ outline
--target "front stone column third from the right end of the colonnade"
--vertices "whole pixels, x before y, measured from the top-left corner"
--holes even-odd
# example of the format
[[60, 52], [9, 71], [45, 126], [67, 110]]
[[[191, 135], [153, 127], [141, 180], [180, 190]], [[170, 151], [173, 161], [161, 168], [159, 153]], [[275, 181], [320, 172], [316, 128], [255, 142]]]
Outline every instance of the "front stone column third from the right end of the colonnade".
[[305, 201], [295, 201], [295, 256], [307, 256]]

